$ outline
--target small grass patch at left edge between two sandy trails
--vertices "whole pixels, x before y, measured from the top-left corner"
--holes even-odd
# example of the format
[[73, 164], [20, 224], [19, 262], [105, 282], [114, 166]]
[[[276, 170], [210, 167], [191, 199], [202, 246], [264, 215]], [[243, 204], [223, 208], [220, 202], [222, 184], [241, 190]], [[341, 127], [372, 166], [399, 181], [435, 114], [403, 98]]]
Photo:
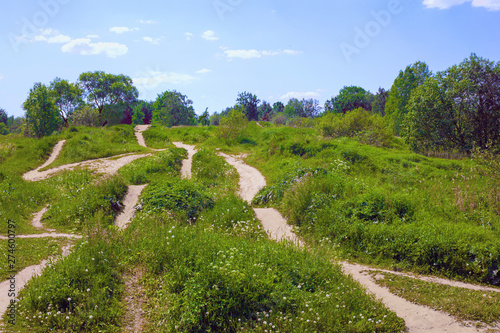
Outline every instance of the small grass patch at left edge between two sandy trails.
[[[8, 252], [10, 249], [8, 241], [0, 240], [0, 244], [2, 244], [0, 281], [7, 280], [12, 274], [16, 274], [28, 266], [37, 265], [42, 260], [61, 254], [62, 247], [67, 243], [66, 239], [61, 238], [16, 238], [16, 247], [14, 254], [12, 254]], [[13, 270], [9, 267], [9, 254], [15, 257]]]

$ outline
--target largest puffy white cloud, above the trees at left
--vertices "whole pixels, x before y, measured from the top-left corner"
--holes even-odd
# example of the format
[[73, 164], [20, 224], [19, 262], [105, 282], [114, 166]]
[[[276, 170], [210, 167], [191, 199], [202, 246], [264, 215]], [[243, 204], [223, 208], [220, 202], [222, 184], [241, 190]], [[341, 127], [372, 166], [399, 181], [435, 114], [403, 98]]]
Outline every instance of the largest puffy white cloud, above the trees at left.
[[128, 47], [119, 43], [92, 43], [90, 38], [79, 38], [63, 45], [61, 50], [65, 53], [80, 55], [105, 54], [108, 58], [116, 58], [127, 54]]

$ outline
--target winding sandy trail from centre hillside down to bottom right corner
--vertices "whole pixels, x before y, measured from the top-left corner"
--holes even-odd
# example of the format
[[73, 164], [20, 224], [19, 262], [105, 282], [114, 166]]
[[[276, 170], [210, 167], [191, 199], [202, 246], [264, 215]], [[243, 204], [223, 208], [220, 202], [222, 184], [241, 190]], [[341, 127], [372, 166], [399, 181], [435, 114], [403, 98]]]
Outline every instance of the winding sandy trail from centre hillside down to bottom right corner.
[[[266, 186], [264, 176], [255, 168], [243, 163], [241, 159], [219, 153], [226, 161], [233, 165], [240, 174], [240, 195], [243, 199], [251, 202], [260, 188]], [[255, 214], [261, 221], [268, 235], [275, 240], [288, 239], [302, 245], [300, 239], [293, 233], [292, 228], [280, 213], [274, 209], [254, 209]], [[376, 298], [382, 302], [399, 317], [405, 320], [409, 332], [428, 333], [465, 333], [480, 332], [474, 327], [467, 327], [457, 322], [450, 315], [433, 310], [429, 307], [413, 304], [407, 300], [393, 295], [388, 289], [377, 285], [371, 277], [361, 273], [366, 267], [343, 263], [345, 274], [351, 275], [356, 281], [363, 285]]]

